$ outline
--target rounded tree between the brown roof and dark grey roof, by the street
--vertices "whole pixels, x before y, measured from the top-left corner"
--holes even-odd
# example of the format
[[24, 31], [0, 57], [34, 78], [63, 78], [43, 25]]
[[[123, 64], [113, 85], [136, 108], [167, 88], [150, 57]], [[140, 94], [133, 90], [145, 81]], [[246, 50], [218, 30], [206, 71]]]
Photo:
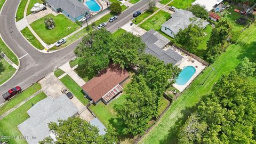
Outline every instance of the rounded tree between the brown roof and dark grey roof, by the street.
[[122, 68], [128, 68], [137, 64], [139, 56], [145, 50], [146, 45], [140, 37], [131, 33], [123, 33], [110, 48], [110, 57], [114, 63]]

